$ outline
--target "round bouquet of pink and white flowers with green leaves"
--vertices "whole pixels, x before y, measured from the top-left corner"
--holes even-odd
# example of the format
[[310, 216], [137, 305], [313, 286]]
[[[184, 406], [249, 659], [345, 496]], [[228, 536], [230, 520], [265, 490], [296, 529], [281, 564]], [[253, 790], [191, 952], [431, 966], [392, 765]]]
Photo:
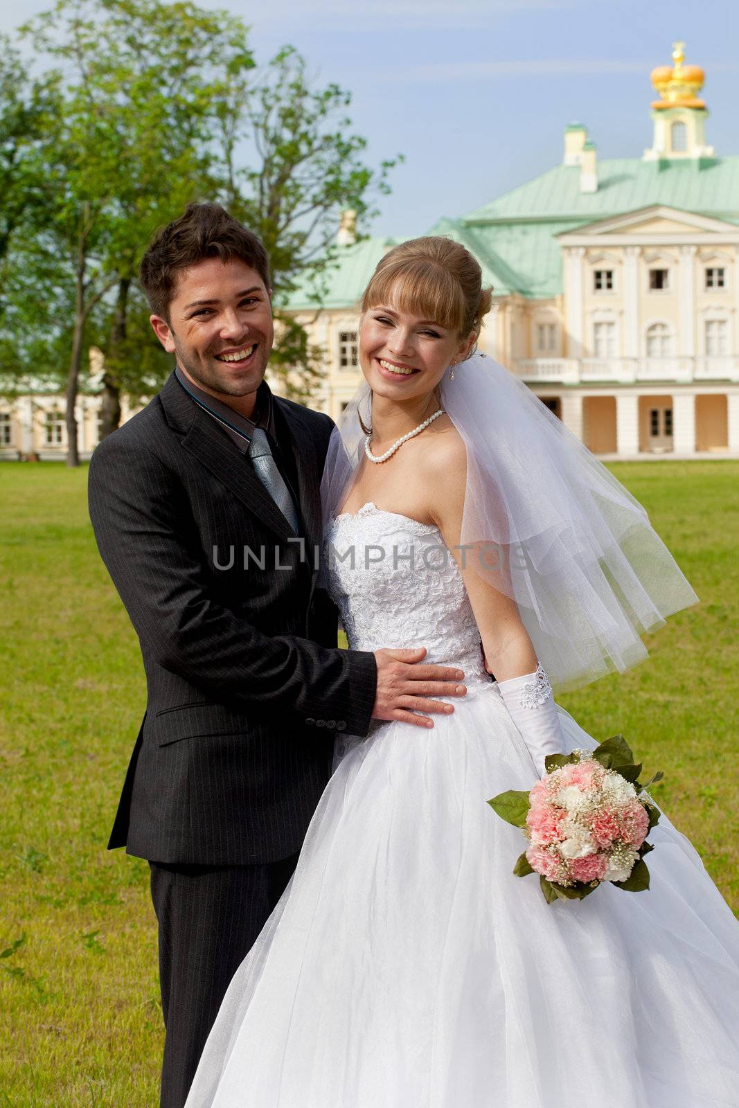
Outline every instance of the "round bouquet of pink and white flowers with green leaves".
[[510, 789], [487, 803], [507, 823], [522, 829], [531, 845], [513, 872], [538, 873], [548, 904], [582, 900], [603, 881], [639, 892], [649, 888], [644, 855], [646, 838], [659, 810], [644, 790], [642, 765], [620, 735], [595, 750], [547, 755], [546, 773], [530, 792]]

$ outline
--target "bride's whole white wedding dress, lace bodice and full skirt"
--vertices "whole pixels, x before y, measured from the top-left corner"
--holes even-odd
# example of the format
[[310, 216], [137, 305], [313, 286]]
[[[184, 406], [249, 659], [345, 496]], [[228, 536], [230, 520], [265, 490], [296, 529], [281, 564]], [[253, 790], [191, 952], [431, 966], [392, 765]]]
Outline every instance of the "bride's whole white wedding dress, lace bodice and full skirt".
[[187, 1108], [736, 1108], [739, 926], [688, 840], [663, 814], [648, 891], [546, 904], [485, 803], [536, 773], [438, 530], [370, 503], [328, 538], [356, 548], [330, 568], [350, 646], [424, 645], [469, 693], [340, 740]]

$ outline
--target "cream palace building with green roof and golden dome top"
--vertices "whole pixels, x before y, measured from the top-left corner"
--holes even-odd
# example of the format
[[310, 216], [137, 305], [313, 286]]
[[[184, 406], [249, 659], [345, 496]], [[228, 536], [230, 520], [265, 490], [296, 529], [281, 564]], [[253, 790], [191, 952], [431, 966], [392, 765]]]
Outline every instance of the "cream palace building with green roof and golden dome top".
[[[598, 160], [571, 123], [560, 165], [428, 233], [466, 246], [494, 289], [480, 348], [594, 453], [739, 456], [739, 156], [707, 145], [704, 72], [684, 43], [651, 82], [640, 157]], [[359, 298], [398, 242], [357, 242], [345, 213], [320, 302], [306, 281], [287, 305], [325, 351], [314, 406], [333, 419], [360, 379]], [[80, 399], [82, 456], [97, 404]], [[63, 397], [0, 401], [0, 456], [64, 451]]]

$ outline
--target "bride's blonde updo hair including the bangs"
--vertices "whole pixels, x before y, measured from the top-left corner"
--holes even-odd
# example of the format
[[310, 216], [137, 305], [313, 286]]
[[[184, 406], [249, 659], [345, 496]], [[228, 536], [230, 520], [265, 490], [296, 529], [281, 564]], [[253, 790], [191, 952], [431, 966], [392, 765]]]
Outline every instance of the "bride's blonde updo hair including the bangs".
[[451, 238], [430, 235], [394, 246], [380, 258], [361, 298], [361, 309], [392, 304], [465, 338], [480, 335], [492, 304], [480, 265]]

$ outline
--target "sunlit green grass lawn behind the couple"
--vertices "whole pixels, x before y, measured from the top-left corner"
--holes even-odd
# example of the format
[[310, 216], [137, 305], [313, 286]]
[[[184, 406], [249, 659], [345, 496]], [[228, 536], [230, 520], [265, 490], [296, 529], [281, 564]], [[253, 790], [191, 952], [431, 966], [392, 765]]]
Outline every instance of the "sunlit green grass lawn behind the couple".
[[[648, 661], [562, 702], [665, 770], [654, 796], [739, 912], [739, 463], [612, 469], [702, 603], [655, 636]], [[0, 1106], [12, 1108], [154, 1108], [157, 1095], [148, 868], [104, 849], [144, 680], [85, 482], [86, 469], [0, 465]]]

